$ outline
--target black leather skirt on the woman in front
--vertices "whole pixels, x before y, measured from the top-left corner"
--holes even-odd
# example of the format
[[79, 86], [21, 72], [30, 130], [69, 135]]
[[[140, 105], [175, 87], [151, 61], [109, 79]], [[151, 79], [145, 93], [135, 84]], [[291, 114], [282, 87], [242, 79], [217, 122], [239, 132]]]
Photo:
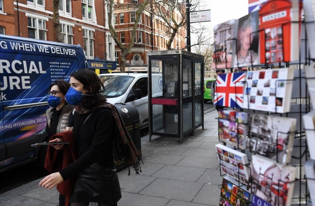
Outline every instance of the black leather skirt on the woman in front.
[[116, 203], [120, 198], [121, 191], [115, 166], [105, 167], [93, 163], [75, 177], [70, 202]]

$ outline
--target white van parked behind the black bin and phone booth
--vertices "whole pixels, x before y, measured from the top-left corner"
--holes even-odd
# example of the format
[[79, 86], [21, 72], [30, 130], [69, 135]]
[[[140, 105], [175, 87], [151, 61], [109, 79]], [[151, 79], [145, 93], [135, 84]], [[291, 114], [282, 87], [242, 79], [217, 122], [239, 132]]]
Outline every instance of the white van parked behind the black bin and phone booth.
[[[98, 75], [104, 83], [101, 94], [107, 102], [129, 103], [137, 108], [140, 115], [140, 129], [149, 125], [148, 74], [113, 73]], [[162, 74], [152, 74], [152, 97], [162, 94]]]

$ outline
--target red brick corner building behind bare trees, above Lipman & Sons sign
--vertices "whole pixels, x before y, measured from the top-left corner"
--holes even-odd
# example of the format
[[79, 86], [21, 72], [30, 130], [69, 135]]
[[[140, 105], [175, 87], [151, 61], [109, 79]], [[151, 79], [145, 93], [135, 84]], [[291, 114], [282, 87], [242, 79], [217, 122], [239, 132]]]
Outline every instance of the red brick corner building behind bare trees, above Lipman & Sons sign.
[[[139, 2], [138, 2], [139, 1]], [[129, 46], [131, 41], [131, 31], [135, 22], [135, 12], [138, 9], [138, 3], [143, 0], [117, 0], [114, 9], [114, 24], [116, 35], [125, 46]], [[167, 12], [165, 10], [165, 12]], [[166, 44], [169, 41], [169, 29], [162, 18], [159, 18], [152, 5], [149, 5], [141, 14], [141, 19], [136, 30], [134, 39], [135, 45], [127, 56], [127, 65], [125, 71], [147, 71], [147, 52], [152, 50], [167, 50]], [[166, 13], [165, 13], [166, 15]], [[180, 13], [175, 11], [175, 17], [179, 21]], [[181, 27], [176, 34], [172, 48], [182, 49], [186, 46], [186, 29]], [[178, 45], [178, 46], [176, 46]], [[115, 57], [120, 64], [121, 50], [115, 46]], [[117, 71], [120, 71], [119, 65]]]

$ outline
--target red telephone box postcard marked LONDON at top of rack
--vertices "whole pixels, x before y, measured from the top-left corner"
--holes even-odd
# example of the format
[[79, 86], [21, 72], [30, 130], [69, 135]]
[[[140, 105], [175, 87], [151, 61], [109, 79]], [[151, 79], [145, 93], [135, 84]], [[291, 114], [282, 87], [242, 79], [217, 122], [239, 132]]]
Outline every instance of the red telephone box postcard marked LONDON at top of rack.
[[259, 11], [261, 63], [299, 59], [300, 0], [270, 0]]

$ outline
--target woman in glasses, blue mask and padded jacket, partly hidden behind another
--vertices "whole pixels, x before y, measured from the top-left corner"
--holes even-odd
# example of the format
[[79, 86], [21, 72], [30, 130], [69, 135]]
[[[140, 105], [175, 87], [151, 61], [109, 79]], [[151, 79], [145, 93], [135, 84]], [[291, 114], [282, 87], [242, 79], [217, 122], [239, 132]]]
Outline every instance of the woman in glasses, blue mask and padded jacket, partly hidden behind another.
[[[74, 106], [68, 104], [65, 100], [65, 95], [70, 86], [70, 83], [65, 81], [55, 81], [49, 86], [47, 102], [50, 108], [46, 111], [46, 140], [49, 140], [52, 135], [65, 131], [66, 127], [72, 126], [71, 119], [73, 118], [72, 111]], [[43, 147], [41, 149], [47, 148]], [[63, 205], [65, 205], [65, 196], [60, 194], [59, 206]]]

